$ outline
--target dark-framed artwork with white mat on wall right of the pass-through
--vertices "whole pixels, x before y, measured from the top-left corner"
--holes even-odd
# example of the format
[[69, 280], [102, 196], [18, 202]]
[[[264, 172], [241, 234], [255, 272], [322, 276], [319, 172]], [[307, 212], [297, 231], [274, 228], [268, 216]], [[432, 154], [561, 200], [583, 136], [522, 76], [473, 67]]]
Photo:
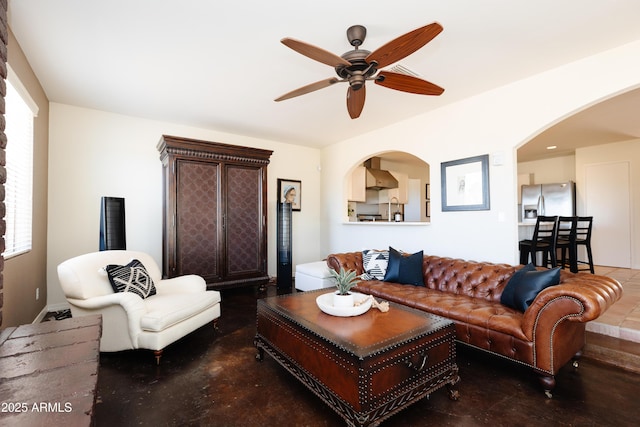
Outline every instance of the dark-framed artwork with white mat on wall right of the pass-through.
[[489, 155], [441, 163], [442, 210], [489, 209]]

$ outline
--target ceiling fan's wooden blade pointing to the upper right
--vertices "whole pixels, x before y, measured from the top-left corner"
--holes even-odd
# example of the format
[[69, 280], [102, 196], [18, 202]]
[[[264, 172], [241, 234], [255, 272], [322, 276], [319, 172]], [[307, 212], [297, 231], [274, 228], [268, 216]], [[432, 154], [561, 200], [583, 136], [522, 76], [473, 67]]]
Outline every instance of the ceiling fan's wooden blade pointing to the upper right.
[[429, 43], [435, 36], [442, 32], [442, 25], [434, 22], [424, 27], [408, 32], [407, 34], [391, 40], [384, 46], [371, 52], [367, 58], [367, 63], [375, 61], [378, 68], [386, 67], [394, 62], [400, 61], [405, 56], [411, 55], [425, 44]]

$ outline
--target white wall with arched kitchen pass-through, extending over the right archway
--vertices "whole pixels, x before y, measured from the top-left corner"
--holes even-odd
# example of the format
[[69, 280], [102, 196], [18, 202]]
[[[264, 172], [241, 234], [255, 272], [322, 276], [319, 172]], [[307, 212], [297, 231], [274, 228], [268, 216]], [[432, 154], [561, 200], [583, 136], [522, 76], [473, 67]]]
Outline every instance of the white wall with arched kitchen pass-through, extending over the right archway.
[[[581, 109], [638, 86], [640, 41], [325, 148], [325, 252], [392, 245], [407, 251], [517, 262], [516, 148]], [[342, 188], [354, 164], [388, 151], [390, 141], [394, 150], [413, 154], [431, 166], [431, 224], [345, 223], [344, 194], [330, 189]], [[491, 209], [442, 212], [440, 163], [481, 154], [491, 155]], [[502, 157], [501, 165], [493, 164], [494, 154]]]

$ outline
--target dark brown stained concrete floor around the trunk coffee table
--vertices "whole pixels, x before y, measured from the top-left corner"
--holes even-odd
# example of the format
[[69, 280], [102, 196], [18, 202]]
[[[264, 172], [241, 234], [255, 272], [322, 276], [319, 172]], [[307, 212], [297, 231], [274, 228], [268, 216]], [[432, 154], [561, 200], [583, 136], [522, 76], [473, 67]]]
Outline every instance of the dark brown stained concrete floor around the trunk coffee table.
[[[254, 288], [223, 292], [219, 331], [205, 326], [165, 349], [103, 353], [96, 426], [336, 426], [342, 419], [253, 346]], [[458, 346], [459, 401], [439, 390], [383, 426], [637, 425], [640, 374], [583, 358], [565, 366], [552, 399], [529, 369]]]

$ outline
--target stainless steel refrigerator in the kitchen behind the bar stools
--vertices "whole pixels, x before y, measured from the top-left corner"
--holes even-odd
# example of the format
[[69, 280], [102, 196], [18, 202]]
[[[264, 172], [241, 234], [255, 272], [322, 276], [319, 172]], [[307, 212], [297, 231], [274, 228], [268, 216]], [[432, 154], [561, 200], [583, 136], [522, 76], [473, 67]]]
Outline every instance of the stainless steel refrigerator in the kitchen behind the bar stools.
[[573, 216], [575, 214], [575, 182], [522, 186], [522, 222], [535, 223], [538, 215]]

